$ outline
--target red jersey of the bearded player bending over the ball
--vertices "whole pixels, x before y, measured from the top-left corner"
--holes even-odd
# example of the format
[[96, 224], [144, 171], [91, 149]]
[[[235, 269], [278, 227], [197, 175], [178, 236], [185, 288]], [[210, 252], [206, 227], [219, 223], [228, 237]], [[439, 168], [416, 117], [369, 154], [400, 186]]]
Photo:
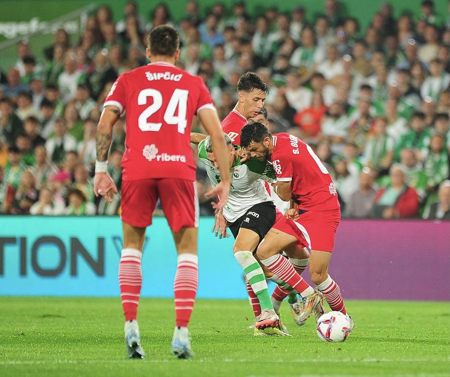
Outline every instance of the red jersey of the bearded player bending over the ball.
[[311, 147], [286, 133], [273, 135], [272, 164], [277, 180], [292, 181], [292, 199], [305, 211], [339, 208], [336, 186]]

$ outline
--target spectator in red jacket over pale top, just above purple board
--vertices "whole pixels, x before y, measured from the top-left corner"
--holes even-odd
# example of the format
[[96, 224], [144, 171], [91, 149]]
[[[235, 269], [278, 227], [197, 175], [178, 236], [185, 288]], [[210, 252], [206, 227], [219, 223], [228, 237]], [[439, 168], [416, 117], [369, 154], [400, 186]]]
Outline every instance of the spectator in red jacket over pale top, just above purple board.
[[401, 165], [393, 164], [389, 175], [391, 184], [378, 191], [372, 215], [382, 218], [417, 216], [419, 214], [419, 196], [414, 188], [406, 185], [406, 176]]

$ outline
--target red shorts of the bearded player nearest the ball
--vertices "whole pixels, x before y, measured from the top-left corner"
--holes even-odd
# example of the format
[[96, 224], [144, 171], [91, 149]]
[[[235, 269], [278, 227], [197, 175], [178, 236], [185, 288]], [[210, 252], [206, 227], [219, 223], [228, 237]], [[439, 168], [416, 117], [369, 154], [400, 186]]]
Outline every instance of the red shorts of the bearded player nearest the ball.
[[318, 251], [333, 251], [335, 234], [340, 222], [339, 208], [330, 211], [308, 211], [301, 214], [297, 221], [284, 216], [277, 219], [273, 227], [295, 237], [303, 247]]

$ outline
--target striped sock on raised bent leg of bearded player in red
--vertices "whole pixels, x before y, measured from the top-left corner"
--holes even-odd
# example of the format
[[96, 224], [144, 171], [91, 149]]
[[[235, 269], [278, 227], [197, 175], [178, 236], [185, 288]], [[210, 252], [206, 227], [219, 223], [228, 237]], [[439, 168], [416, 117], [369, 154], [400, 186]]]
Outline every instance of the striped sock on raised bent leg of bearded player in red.
[[287, 283], [302, 296], [309, 296], [314, 293], [312, 287], [303, 280], [292, 264], [281, 254], [276, 254], [270, 258], [261, 260], [261, 263], [270, 269], [279, 279]]

